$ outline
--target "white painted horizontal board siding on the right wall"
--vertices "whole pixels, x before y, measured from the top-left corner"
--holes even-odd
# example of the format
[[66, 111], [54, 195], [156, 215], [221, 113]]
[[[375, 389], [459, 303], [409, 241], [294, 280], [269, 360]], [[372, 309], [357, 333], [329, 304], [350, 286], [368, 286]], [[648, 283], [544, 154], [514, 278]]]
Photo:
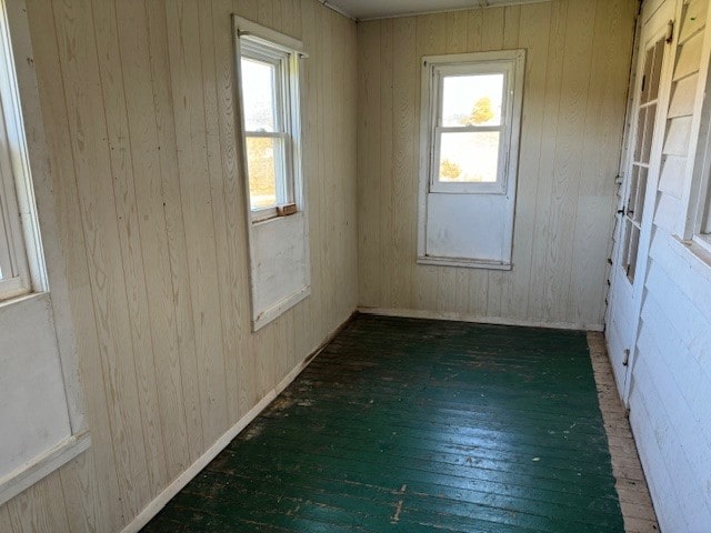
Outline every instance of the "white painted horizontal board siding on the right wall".
[[[705, 533], [711, 531], [711, 264], [674, 234], [693, 165], [690, 141], [699, 133], [694, 119], [705, 83], [699, 71], [711, 33], [708, 0], [677, 6], [678, 59], [629, 406], [662, 531]], [[609, 348], [612, 358], [620, 356], [621, 346]]]

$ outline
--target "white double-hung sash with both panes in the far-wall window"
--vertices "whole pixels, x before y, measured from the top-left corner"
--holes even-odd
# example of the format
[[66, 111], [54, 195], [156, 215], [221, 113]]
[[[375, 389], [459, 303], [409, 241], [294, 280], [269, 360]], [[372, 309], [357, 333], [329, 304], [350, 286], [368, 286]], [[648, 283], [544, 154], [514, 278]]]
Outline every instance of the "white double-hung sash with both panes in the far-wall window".
[[513, 68], [492, 60], [432, 67], [431, 192], [505, 190]]

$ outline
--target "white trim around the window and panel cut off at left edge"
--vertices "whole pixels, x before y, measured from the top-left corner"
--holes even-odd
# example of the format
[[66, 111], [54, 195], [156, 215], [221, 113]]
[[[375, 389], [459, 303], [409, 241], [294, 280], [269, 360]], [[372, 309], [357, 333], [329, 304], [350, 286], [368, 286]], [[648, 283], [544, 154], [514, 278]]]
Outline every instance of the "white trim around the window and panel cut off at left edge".
[[[13, 147], [10, 151], [10, 164], [17, 184], [17, 201], [32, 291], [0, 302], [0, 318], [34, 303], [51, 310], [71, 433], [51, 449], [31, 457], [18, 470], [0, 477], [2, 505], [89, 449], [91, 435], [87, 428], [79, 379], [69, 284], [64, 274], [57, 225], [49, 151], [41, 117], [26, 1], [0, 0], [0, 17], [3, 17], [0, 21], [2, 62], [13, 67], [0, 69], [0, 91], [7, 109], [6, 131]], [[14, 57], [21, 59], [16, 61]], [[49, 280], [52, 281], [51, 293]]]

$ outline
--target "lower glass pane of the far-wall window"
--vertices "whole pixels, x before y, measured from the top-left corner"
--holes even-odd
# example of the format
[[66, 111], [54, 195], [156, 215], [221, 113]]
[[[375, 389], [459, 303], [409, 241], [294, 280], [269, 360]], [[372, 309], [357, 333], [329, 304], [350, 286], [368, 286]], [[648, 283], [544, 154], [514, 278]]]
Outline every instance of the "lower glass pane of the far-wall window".
[[499, 134], [498, 131], [442, 133], [439, 181], [495, 182]]

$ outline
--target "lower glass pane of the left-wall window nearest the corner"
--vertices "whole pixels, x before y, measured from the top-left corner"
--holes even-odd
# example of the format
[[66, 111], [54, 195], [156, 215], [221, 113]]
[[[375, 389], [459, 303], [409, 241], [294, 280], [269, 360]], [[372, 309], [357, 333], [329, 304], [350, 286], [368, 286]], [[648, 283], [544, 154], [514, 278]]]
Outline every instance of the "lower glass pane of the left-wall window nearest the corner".
[[278, 139], [247, 138], [249, 202], [252, 210], [277, 205]]

